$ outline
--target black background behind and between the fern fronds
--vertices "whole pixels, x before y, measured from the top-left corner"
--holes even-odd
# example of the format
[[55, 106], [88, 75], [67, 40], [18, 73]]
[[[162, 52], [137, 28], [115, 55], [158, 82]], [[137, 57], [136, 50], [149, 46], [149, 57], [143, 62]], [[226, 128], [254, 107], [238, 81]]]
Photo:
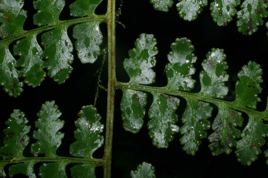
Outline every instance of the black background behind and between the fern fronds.
[[[69, 16], [70, 13], [68, 5], [74, 2], [74, 0], [68, 0], [66, 7], [60, 15], [60, 20], [67, 20], [73, 17]], [[118, 1], [119, 4], [120, 1]], [[211, 0], [209, 1], [210, 4]], [[259, 26], [256, 33], [251, 36], [242, 35], [237, 31], [236, 17], [233, 21], [228, 23], [227, 26], [218, 26], [210, 15], [211, 11], [208, 7], [204, 7], [203, 12], [198, 16], [197, 20], [188, 22], [179, 17], [176, 9], [175, 0], [173, 7], [169, 12], [160, 12], [153, 9], [149, 0], [124, 0], [122, 6], [122, 14], [119, 17], [119, 21], [125, 25], [125, 29], [117, 24], [116, 27], [116, 76], [118, 81], [128, 82], [129, 78], [123, 68], [123, 60], [128, 58], [128, 50], [134, 47], [134, 41], [139, 37], [141, 33], [154, 34], [157, 39], [158, 55], [156, 56], [157, 65], [154, 67], [154, 71], [157, 73], [156, 83], [153, 86], [165, 86], [167, 84], [166, 75], [164, 69], [167, 63], [166, 55], [171, 50], [170, 45], [176, 38], [187, 37], [192, 40], [192, 44], [195, 48], [195, 55], [198, 57], [197, 63], [194, 64], [196, 73], [193, 76], [197, 80], [194, 90], [192, 92], [199, 92], [200, 82], [199, 73], [201, 69], [201, 62], [205, 59], [205, 55], [211, 48], [223, 48], [227, 55], [226, 61], [228, 62], [229, 69], [227, 73], [230, 75], [229, 81], [226, 82], [226, 86], [229, 87], [228, 96], [225, 100], [232, 101], [235, 98], [234, 86], [235, 81], [238, 80], [237, 73], [241, 70], [244, 64], [252, 60], [261, 65], [263, 69], [264, 83], [261, 84], [263, 88], [261, 97], [262, 102], [258, 103], [257, 110], [263, 111], [266, 108], [267, 98], [267, 46], [268, 37], [266, 27]], [[107, 8], [107, 1], [102, 2], [96, 9], [96, 14], [105, 14]], [[25, 22], [24, 29], [30, 30], [37, 28], [33, 25], [32, 15], [36, 13], [33, 10], [32, 1], [26, 1], [24, 9], [28, 11], [28, 18]], [[240, 10], [239, 7], [237, 9]], [[66, 15], [67, 13], [67, 15]], [[264, 20], [264, 23], [267, 19]], [[72, 27], [68, 29], [70, 39], [72, 38]], [[107, 45], [107, 28], [106, 24], [101, 24], [101, 30], [104, 36], [102, 48]], [[40, 42], [41, 34], [38, 35]], [[14, 45], [10, 45], [10, 50]], [[69, 145], [75, 141], [73, 137], [73, 131], [76, 129], [74, 121], [78, 118], [77, 113], [80, 111], [83, 105], [91, 105], [94, 103], [94, 94], [97, 84], [97, 77], [94, 76], [96, 69], [101, 66], [102, 56], [94, 64], [81, 64], [77, 58], [77, 51], [74, 50], [73, 54], [75, 60], [72, 64], [74, 70], [70, 75], [70, 78], [65, 84], [58, 85], [53, 82], [53, 79], [48, 76], [43, 81], [41, 86], [32, 88], [25, 84], [24, 92], [21, 96], [14, 98], [9, 97], [4, 91], [0, 92], [0, 98], [2, 102], [1, 106], [1, 130], [6, 125], [4, 121], [9, 118], [13, 109], [20, 109], [25, 112], [26, 117], [29, 119], [29, 125], [32, 125], [31, 131], [28, 134], [30, 136], [30, 144], [35, 143], [32, 136], [34, 127], [34, 121], [38, 119], [36, 113], [40, 110], [41, 105], [45, 101], [55, 100], [55, 103], [59, 106], [60, 111], [63, 113], [60, 119], [65, 120], [64, 128], [61, 132], [65, 133], [62, 140], [62, 144], [57, 150], [57, 154], [61, 156], [69, 156]], [[16, 57], [18, 59], [18, 57]], [[103, 69], [103, 75], [101, 78], [102, 84], [107, 86], [107, 62]], [[152, 96], [148, 94], [146, 111], [148, 111], [151, 103]], [[242, 166], [236, 161], [234, 154], [235, 149], [230, 155], [220, 154], [217, 157], [211, 155], [211, 151], [208, 148], [208, 140], [203, 139], [202, 144], [199, 147], [199, 151], [195, 156], [187, 155], [182, 150], [180, 145], [179, 133], [174, 135], [174, 140], [169, 144], [167, 149], [158, 149], [152, 145], [152, 140], [148, 136], [147, 129], [147, 112], [144, 118], [144, 126], [138, 134], [132, 134], [124, 131], [122, 127], [120, 101], [122, 92], [116, 92], [115, 100], [115, 115], [114, 115], [114, 135], [113, 135], [113, 157], [112, 157], [112, 177], [130, 177], [130, 170], [135, 170], [138, 164], [143, 161], [151, 163], [155, 166], [156, 177], [267, 177], [265, 164], [266, 159], [263, 153], [258, 156], [258, 160], [255, 161], [252, 166]], [[186, 106], [186, 101], [180, 98], [181, 104], [178, 107], [176, 114], [178, 115], [179, 122], [177, 125], [180, 127], [182, 123], [180, 118]], [[99, 99], [96, 104], [98, 113], [101, 114], [101, 122], [106, 122], [106, 101], [107, 94], [104, 91], [100, 91]], [[217, 114], [217, 107], [214, 107], [213, 116], [209, 119], [211, 123], [213, 118]], [[244, 125], [240, 128], [242, 130], [247, 124], [247, 115], [243, 114]], [[209, 130], [208, 135], [213, 131]], [[105, 135], [105, 131], [102, 135]], [[1, 140], [4, 138], [4, 133], [0, 136]], [[24, 151], [25, 156], [32, 156], [29, 153], [30, 144]], [[1, 146], [3, 144], [0, 144]], [[267, 146], [263, 146], [262, 151], [267, 149]], [[101, 158], [103, 155], [104, 146], [98, 149], [94, 156]], [[38, 174], [38, 167], [41, 164], [36, 164], [36, 173]], [[68, 165], [66, 168], [69, 173], [69, 168], [73, 165]], [[6, 173], [8, 166], [6, 166]], [[96, 168], [96, 174], [102, 177], [102, 168]]]

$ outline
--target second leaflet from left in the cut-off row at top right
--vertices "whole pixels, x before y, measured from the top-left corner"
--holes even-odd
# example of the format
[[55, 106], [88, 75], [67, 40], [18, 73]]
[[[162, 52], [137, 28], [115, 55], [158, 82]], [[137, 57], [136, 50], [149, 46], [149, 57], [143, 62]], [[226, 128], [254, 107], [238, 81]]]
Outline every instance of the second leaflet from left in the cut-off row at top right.
[[180, 17], [186, 21], [192, 21], [202, 12], [202, 7], [208, 5], [207, 0], [179, 0], [176, 5]]

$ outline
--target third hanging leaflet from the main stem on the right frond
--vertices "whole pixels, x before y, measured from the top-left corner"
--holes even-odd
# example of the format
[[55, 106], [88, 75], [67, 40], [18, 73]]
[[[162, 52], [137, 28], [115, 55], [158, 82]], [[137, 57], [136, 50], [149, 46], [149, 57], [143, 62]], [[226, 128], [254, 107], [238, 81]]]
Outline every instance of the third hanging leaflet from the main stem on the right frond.
[[210, 128], [212, 107], [208, 103], [187, 98], [186, 109], [181, 118], [183, 126], [180, 127], [180, 133], [183, 135], [180, 138], [180, 144], [184, 145], [183, 150], [189, 155], [195, 155], [198, 146], [201, 144], [201, 139], [207, 137], [207, 132]]

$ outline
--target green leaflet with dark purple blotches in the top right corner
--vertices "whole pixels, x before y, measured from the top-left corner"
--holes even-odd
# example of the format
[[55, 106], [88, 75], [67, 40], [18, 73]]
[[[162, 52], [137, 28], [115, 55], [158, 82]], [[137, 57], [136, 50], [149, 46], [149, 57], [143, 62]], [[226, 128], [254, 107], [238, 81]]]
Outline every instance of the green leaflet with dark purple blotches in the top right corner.
[[248, 35], [256, 32], [257, 26], [263, 25], [262, 18], [268, 15], [267, 7], [268, 3], [264, 0], [245, 0], [241, 5], [242, 10], [237, 12], [238, 31]]

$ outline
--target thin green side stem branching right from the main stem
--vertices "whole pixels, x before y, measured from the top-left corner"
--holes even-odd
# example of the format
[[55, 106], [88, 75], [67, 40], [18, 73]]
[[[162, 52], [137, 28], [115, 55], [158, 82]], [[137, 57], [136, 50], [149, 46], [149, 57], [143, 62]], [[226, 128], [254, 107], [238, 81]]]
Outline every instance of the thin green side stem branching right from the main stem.
[[200, 95], [197, 95], [197, 93], [188, 93], [188, 92], [182, 92], [182, 91], [170, 91], [167, 90], [164, 87], [155, 87], [155, 86], [144, 86], [144, 85], [138, 85], [138, 84], [129, 84], [129, 83], [122, 83], [122, 82], [117, 82], [116, 84], [117, 89], [133, 89], [133, 90], [140, 90], [140, 91], [145, 91], [145, 92], [158, 92], [158, 93], [165, 93], [165, 94], [170, 94], [174, 96], [180, 96], [183, 98], [194, 98], [196, 100], [200, 101], [206, 101], [209, 103], [213, 103], [215, 105], [226, 105], [229, 108], [233, 108], [235, 110], [239, 110], [248, 114], [255, 114], [259, 116], [260, 118], [267, 120], [268, 121], [268, 116], [265, 115], [263, 112], [260, 111], [255, 111], [249, 108], [244, 108], [244, 107], [239, 107], [236, 104], [228, 101], [223, 101], [215, 98], [208, 98], [208, 97], [203, 97]]

